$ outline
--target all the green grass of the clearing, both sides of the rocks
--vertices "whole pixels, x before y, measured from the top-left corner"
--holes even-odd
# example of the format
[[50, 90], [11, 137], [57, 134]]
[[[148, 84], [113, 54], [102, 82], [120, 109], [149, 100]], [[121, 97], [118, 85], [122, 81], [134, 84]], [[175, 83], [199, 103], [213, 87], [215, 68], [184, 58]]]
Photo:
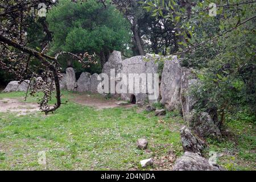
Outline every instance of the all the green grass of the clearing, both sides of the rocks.
[[[63, 92], [63, 99], [71, 100], [80, 94]], [[0, 100], [22, 101], [23, 97], [21, 92], [0, 93]], [[36, 102], [36, 98], [29, 97], [27, 102]], [[142, 159], [158, 160], [170, 152], [176, 157], [182, 155], [182, 118], [174, 117], [178, 115], [175, 112], [158, 118], [139, 110], [97, 110], [68, 102], [47, 116], [40, 112], [19, 117], [15, 113], [0, 113], [0, 169], [129, 170], [141, 169]], [[233, 121], [227, 129], [229, 135], [221, 142], [208, 140], [209, 150], [224, 154], [218, 163], [230, 170], [255, 169], [255, 124]], [[138, 138], [148, 139], [148, 150], [137, 149]], [[38, 164], [40, 151], [46, 151], [46, 165]], [[170, 168], [156, 163], [147, 169]]]

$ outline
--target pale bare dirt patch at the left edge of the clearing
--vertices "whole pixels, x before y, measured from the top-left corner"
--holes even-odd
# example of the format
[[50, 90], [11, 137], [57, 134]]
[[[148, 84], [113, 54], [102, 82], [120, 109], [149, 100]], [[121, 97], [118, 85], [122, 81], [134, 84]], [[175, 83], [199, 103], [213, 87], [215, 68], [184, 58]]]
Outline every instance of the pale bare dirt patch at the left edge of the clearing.
[[14, 98], [3, 98], [0, 100], [0, 112], [15, 112], [18, 115], [31, 114], [40, 111], [37, 104], [21, 102]]

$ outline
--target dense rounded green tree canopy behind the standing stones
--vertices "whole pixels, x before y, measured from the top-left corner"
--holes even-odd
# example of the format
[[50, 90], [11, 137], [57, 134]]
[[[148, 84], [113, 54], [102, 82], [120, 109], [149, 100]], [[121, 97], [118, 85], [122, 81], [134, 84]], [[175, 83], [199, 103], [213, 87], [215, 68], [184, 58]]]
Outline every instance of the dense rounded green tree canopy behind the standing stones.
[[61, 0], [47, 14], [53, 32], [52, 51], [96, 53], [121, 51], [130, 41], [129, 22], [114, 6], [88, 0]]

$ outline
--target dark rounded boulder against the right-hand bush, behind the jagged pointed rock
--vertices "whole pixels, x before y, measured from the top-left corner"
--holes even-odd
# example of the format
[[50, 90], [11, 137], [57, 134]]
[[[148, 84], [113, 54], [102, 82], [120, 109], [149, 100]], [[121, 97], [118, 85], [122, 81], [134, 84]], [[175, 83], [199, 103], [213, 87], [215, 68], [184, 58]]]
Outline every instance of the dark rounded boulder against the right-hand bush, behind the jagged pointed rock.
[[201, 138], [214, 137], [220, 138], [221, 132], [210, 115], [205, 112], [196, 113], [192, 111], [188, 118], [189, 128]]

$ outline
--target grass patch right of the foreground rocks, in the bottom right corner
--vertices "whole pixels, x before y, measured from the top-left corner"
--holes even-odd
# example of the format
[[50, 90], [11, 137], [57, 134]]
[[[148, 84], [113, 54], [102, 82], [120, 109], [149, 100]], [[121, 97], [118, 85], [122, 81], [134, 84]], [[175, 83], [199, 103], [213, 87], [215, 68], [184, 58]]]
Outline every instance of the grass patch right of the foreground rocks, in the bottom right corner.
[[255, 170], [256, 135], [253, 121], [233, 120], [226, 123], [226, 130], [221, 141], [208, 139], [209, 151], [222, 154], [218, 163], [227, 170]]

